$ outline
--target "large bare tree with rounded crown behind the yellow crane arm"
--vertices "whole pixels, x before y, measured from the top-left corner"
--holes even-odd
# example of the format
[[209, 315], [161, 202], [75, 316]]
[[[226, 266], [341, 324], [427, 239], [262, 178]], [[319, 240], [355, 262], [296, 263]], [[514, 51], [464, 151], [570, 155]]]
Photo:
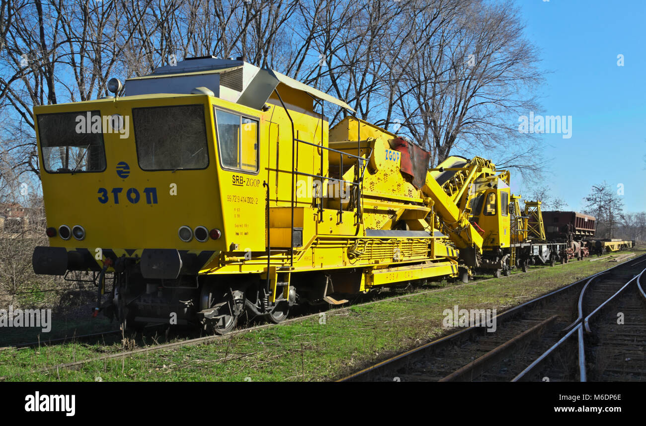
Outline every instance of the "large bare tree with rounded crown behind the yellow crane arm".
[[[509, 3], [461, 2], [440, 22], [432, 43], [420, 46], [399, 101], [406, 127], [431, 150], [435, 163], [454, 148], [505, 148], [499, 165], [537, 172], [533, 137], [517, 117], [538, 108], [531, 88], [541, 82], [537, 49], [523, 35]], [[539, 165], [540, 166], [540, 165]]]

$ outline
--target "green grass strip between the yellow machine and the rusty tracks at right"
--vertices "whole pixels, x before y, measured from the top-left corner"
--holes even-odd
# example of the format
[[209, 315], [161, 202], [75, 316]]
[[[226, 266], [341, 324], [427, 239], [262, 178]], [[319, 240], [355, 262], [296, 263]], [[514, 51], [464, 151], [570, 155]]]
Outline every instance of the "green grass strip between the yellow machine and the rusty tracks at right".
[[[643, 254], [646, 250], [634, 250]], [[625, 252], [624, 252], [625, 253]], [[610, 258], [571, 261], [528, 274], [451, 285], [426, 294], [380, 301], [294, 323], [234, 334], [211, 344], [93, 361], [79, 370], [30, 370], [96, 358], [118, 345], [73, 343], [0, 351], [0, 376], [21, 381], [324, 381], [384, 360], [450, 332], [442, 312], [508, 309], [616, 265]], [[100, 378], [100, 379], [99, 379]]]

